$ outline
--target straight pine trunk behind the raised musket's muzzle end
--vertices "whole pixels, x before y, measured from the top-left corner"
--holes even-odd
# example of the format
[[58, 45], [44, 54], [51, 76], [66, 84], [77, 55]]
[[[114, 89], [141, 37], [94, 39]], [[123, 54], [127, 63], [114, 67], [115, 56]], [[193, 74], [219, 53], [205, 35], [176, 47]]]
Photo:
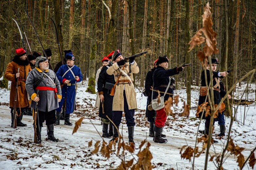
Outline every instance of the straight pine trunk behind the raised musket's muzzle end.
[[[147, 19], [148, 19], [148, 0], [145, 0], [144, 6], [144, 22], [143, 22], [143, 33], [142, 33], [142, 51], [146, 49], [146, 36], [147, 36]], [[141, 68], [140, 68], [140, 86], [144, 86], [145, 81], [145, 56], [141, 56]]]

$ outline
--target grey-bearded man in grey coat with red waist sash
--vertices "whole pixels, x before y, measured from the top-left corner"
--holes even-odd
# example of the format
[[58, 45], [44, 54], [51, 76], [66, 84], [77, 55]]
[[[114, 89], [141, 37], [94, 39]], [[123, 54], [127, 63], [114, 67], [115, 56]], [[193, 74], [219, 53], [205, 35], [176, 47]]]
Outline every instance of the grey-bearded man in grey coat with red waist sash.
[[[37, 142], [41, 143], [41, 129], [44, 121], [46, 121], [47, 126], [47, 139], [58, 142], [53, 134], [53, 124], [56, 121], [55, 109], [59, 107], [58, 102], [62, 98], [60, 82], [56, 74], [49, 69], [49, 62], [46, 57], [37, 57], [35, 66], [35, 69], [31, 70], [28, 75], [26, 89], [32, 99], [30, 106], [34, 110], [37, 102], [37, 114], [39, 116], [39, 126], [38, 121], [36, 122]], [[37, 90], [39, 90], [38, 97], [36, 95]]]

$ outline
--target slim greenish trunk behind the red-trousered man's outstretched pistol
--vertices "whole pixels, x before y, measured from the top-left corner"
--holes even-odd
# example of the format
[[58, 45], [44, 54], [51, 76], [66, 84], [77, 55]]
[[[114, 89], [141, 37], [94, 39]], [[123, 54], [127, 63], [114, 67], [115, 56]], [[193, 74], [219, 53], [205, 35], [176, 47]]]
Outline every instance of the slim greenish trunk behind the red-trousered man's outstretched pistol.
[[[185, 16], [185, 34], [186, 34], [186, 44], [187, 44], [187, 49], [189, 47], [188, 43], [190, 41], [189, 37], [189, 1], [186, 3], [186, 16]], [[187, 51], [187, 50], [186, 50]], [[186, 52], [186, 63], [190, 63], [190, 53]], [[186, 73], [187, 73], [187, 104], [189, 106], [191, 105], [191, 70], [190, 67], [185, 68]]]

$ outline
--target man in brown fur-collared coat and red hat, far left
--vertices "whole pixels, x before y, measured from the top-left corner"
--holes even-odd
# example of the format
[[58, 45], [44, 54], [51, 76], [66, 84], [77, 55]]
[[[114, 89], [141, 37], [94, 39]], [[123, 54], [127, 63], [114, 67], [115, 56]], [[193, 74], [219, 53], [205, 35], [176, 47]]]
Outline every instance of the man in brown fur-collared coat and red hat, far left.
[[[28, 77], [28, 73], [31, 71], [31, 67], [29, 64], [29, 60], [27, 58], [27, 52], [23, 48], [16, 49], [16, 55], [14, 56], [12, 62], [7, 65], [4, 77], [11, 81], [11, 90], [10, 90], [10, 108], [11, 108], [11, 127], [13, 127], [14, 115], [12, 113], [14, 109], [14, 100], [15, 100], [15, 91], [17, 78], [18, 80], [18, 93], [17, 103], [16, 103], [16, 111], [18, 115], [17, 117], [17, 126], [27, 126], [21, 122], [23, 113], [26, 108], [29, 107], [28, 93], [25, 88], [25, 83]], [[18, 73], [19, 68], [19, 73]], [[21, 108], [21, 111], [19, 109]]]

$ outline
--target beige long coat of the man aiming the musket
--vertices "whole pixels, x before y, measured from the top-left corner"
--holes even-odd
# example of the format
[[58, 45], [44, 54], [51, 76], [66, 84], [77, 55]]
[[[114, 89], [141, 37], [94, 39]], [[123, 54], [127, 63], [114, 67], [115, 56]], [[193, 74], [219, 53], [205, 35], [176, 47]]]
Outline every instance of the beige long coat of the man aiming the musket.
[[[115, 81], [117, 81], [117, 78], [120, 75], [119, 67], [120, 69], [122, 69], [123, 66], [118, 66], [117, 63], [114, 63], [113, 66], [110, 66], [107, 69], [107, 73], [109, 75], [114, 74]], [[126, 63], [124, 72], [126, 72], [129, 75], [129, 63]], [[132, 73], [138, 73], [138, 72], [139, 72], [139, 67], [137, 63], [134, 61], [134, 64], [131, 65], [131, 73], [129, 75], [132, 82], [134, 81]], [[119, 80], [129, 80], [129, 79], [122, 74]], [[127, 100], [129, 110], [137, 108], [136, 93], [134, 91], [133, 83], [130, 83], [130, 85], [128, 83], [127, 84], [120, 83], [119, 85], [116, 85], [116, 90], [113, 98], [113, 111], [124, 111], [124, 96], [123, 96], [124, 86], [125, 86], [125, 95], [126, 95], [126, 100]]]

